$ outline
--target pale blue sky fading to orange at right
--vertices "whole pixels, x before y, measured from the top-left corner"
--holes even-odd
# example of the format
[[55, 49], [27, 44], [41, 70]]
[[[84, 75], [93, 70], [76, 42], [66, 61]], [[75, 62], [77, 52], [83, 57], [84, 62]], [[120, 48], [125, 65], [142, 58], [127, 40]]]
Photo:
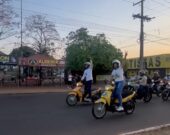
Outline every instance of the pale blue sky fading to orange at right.
[[[128, 57], [139, 56], [140, 13], [138, 0], [23, 0], [23, 18], [34, 14], [45, 15], [55, 22], [61, 38], [80, 27], [89, 33], [105, 33], [107, 39]], [[13, 0], [14, 10], [20, 13], [20, 0]], [[145, 0], [144, 14], [155, 17], [144, 23], [145, 56], [170, 53], [170, 0]], [[19, 19], [19, 18], [18, 18]], [[1, 41], [0, 50], [9, 53], [18, 39]], [[61, 47], [62, 48], [62, 47]]]

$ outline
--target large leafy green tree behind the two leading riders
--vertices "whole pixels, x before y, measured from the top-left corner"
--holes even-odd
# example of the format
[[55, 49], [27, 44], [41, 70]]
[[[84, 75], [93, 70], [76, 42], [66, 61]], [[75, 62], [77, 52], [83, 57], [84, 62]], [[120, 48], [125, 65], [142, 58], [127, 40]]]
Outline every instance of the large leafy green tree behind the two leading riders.
[[73, 71], [82, 71], [88, 58], [93, 60], [94, 73], [103, 74], [112, 69], [113, 59], [122, 59], [122, 52], [109, 43], [104, 34], [91, 36], [81, 28], [69, 33], [66, 49], [66, 66]]

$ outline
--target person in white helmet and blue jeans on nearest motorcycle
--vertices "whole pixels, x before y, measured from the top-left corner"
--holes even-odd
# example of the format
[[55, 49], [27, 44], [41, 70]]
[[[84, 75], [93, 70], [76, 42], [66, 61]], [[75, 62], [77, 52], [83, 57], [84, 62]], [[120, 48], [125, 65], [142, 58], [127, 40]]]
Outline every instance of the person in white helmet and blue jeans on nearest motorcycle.
[[115, 97], [118, 98], [119, 106], [116, 108], [117, 111], [123, 111], [124, 108], [122, 106], [122, 91], [124, 87], [124, 71], [119, 60], [114, 60], [113, 71], [111, 73], [111, 80], [115, 81], [115, 91], [112, 93], [112, 101]]

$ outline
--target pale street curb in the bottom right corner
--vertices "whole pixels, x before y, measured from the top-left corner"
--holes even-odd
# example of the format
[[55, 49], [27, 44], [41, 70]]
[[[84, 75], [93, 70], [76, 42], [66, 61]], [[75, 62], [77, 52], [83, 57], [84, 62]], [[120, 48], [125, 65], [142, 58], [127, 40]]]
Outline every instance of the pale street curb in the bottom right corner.
[[146, 133], [146, 132], [150, 132], [150, 131], [154, 131], [154, 130], [158, 130], [158, 129], [166, 128], [166, 127], [170, 127], [170, 124], [164, 124], [164, 125], [160, 125], [160, 126], [149, 127], [149, 128], [140, 129], [140, 130], [137, 130], [137, 131], [123, 133], [123, 134], [120, 134], [120, 135], [134, 135], [134, 134]]

